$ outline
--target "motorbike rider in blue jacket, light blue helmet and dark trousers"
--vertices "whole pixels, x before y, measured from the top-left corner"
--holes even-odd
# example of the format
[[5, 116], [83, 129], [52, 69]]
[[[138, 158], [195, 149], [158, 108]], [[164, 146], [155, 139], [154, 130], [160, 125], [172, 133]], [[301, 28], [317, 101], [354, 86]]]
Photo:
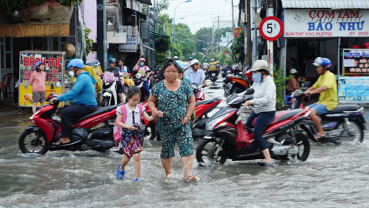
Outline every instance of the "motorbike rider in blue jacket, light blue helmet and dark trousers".
[[86, 116], [92, 113], [97, 108], [96, 101], [96, 88], [95, 83], [97, 82], [89, 72], [83, 70], [85, 63], [82, 59], [76, 58], [72, 59], [67, 64], [67, 69], [69, 68], [69, 75], [71, 77], [76, 77], [76, 82], [73, 88], [59, 96], [50, 99], [50, 102], [55, 100], [59, 102], [73, 100], [73, 104], [67, 108], [61, 110], [61, 126], [62, 126], [62, 137], [58, 142], [53, 143], [54, 145], [65, 145], [69, 144], [70, 141], [70, 122], [73, 119]]

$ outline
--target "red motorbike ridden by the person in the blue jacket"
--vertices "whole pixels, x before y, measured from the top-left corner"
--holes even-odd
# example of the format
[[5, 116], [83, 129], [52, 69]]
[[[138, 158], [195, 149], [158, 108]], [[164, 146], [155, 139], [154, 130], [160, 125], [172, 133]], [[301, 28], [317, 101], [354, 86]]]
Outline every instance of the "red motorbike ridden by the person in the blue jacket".
[[[56, 96], [59, 95], [52, 92], [46, 101]], [[117, 146], [113, 136], [114, 125], [108, 124], [108, 119], [115, 116], [117, 106], [100, 108], [73, 121], [70, 126], [71, 142], [65, 145], [53, 145], [53, 142], [61, 138], [61, 119], [55, 113], [58, 104], [59, 102], [48, 103], [30, 117], [32, 126], [25, 128], [19, 137], [19, 147], [23, 153], [45, 154], [48, 150], [106, 151]], [[92, 129], [103, 122], [105, 126]]]

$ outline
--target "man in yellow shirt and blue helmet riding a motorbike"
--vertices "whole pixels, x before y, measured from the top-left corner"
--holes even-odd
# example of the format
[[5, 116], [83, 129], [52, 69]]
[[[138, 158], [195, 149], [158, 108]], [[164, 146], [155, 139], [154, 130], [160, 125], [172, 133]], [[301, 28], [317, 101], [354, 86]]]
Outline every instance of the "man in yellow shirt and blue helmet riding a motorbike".
[[313, 95], [320, 93], [319, 101], [310, 105], [310, 118], [318, 129], [316, 139], [321, 139], [325, 136], [323, 127], [321, 126], [318, 115], [334, 110], [338, 105], [337, 82], [335, 75], [330, 71], [332, 62], [328, 58], [318, 57], [313, 63], [317, 67], [317, 72], [320, 74], [317, 82], [314, 83], [305, 95]]

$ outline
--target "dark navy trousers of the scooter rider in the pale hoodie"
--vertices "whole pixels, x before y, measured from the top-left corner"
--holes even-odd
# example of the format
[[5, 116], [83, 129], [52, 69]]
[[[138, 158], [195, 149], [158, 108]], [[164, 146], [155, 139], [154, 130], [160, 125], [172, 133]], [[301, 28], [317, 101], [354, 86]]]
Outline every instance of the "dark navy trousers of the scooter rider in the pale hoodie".
[[254, 120], [256, 117], [253, 134], [254, 139], [259, 144], [261, 151], [268, 149], [268, 146], [266, 146], [265, 139], [263, 138], [263, 134], [266, 128], [269, 126], [270, 122], [272, 122], [272, 120], [274, 119], [275, 115], [276, 115], [275, 111], [266, 111], [261, 113], [255, 113], [253, 111], [245, 124], [245, 126], [250, 128], [252, 120]]

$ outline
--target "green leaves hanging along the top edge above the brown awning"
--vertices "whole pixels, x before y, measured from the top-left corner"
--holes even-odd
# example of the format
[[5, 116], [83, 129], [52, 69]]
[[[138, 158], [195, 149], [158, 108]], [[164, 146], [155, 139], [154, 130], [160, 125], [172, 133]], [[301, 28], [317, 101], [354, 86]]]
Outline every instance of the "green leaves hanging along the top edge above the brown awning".
[[[54, 0], [51, 0], [54, 1]], [[55, 0], [63, 6], [72, 7], [73, 4], [80, 3], [79, 0]], [[11, 11], [19, 9], [21, 7], [30, 7], [33, 4], [45, 4], [44, 0], [1, 0], [0, 10], [3, 10], [4, 14], [9, 14]]]

